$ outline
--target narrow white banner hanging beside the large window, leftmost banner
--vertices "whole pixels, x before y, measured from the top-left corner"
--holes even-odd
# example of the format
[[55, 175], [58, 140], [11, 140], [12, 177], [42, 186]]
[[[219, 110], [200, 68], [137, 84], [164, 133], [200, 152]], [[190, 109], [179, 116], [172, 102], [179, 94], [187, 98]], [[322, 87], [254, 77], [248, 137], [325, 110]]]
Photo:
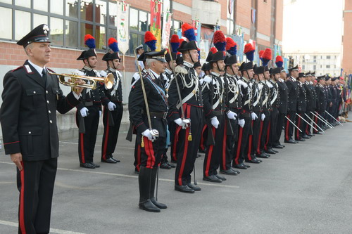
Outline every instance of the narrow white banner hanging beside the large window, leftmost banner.
[[118, 33], [118, 48], [121, 53], [125, 54], [129, 48], [129, 36], [130, 33], [128, 28], [128, 16], [130, 5], [126, 4], [125, 1], [118, 3], [118, 20], [117, 20], [117, 33]]

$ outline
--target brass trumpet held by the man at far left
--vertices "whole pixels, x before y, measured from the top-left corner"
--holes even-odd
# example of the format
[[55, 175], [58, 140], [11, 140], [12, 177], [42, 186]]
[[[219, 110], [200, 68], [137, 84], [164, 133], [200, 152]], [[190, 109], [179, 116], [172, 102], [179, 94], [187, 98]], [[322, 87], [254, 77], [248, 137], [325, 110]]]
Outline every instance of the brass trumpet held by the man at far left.
[[[113, 88], [113, 74], [110, 73], [108, 74], [107, 77], [88, 77], [88, 76], [81, 76], [78, 74], [58, 74], [58, 73], [51, 73], [58, 76], [58, 81], [65, 85], [65, 86], [70, 86], [70, 87], [82, 87], [82, 88], [87, 88], [87, 89], [96, 89], [96, 82], [102, 82], [105, 84], [106, 89], [111, 89]], [[68, 77], [71, 79], [71, 81], [66, 81], [65, 78]], [[92, 84], [75, 84], [75, 79], [83, 79], [84, 81], [89, 81]]]

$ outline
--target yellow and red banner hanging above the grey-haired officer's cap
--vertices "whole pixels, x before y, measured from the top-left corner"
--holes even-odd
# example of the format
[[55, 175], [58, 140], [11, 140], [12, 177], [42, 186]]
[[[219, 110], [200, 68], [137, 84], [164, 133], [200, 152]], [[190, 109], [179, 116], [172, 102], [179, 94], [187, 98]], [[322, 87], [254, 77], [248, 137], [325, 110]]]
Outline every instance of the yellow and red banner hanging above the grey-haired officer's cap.
[[156, 37], [156, 50], [161, 50], [161, 4], [162, 0], [151, 0], [151, 33]]

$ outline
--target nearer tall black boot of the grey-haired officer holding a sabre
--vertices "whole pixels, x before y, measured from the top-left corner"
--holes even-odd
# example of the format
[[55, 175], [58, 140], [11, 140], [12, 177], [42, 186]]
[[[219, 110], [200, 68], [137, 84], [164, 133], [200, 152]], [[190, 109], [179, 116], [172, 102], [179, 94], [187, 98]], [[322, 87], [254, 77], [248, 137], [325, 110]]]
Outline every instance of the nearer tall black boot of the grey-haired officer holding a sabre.
[[150, 200], [151, 178], [152, 169], [146, 167], [141, 167], [139, 169], [139, 209], [144, 209], [147, 212], [160, 212], [160, 209], [156, 207]]

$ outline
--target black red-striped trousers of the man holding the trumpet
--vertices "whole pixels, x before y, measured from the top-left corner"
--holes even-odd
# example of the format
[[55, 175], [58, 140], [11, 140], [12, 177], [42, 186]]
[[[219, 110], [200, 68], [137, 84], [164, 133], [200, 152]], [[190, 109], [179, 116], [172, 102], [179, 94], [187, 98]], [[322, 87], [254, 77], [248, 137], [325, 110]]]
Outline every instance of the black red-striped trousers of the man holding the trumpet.
[[23, 161], [23, 170], [17, 169], [18, 233], [49, 233], [57, 162], [57, 158]]

